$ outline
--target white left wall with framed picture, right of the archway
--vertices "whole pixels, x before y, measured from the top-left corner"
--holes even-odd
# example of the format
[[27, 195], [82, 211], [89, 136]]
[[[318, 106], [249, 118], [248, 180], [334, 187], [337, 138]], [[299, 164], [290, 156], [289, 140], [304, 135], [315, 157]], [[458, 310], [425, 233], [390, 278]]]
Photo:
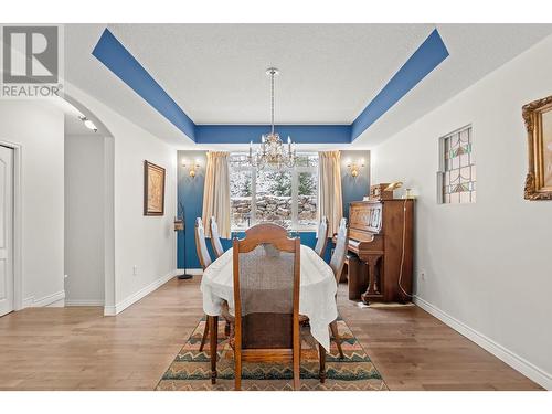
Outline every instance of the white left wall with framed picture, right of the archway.
[[[117, 314], [174, 274], [177, 152], [83, 91], [71, 84], [65, 89], [113, 135], [115, 297], [109, 304], [106, 296], [106, 314]], [[144, 216], [145, 160], [166, 168], [163, 216]]]

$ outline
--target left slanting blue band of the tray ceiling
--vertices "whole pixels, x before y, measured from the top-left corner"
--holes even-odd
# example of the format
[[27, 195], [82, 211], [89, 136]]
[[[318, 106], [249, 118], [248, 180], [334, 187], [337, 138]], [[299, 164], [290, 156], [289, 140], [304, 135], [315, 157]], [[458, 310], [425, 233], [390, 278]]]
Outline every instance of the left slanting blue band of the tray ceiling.
[[195, 124], [109, 30], [104, 30], [92, 54], [172, 125], [195, 140]]

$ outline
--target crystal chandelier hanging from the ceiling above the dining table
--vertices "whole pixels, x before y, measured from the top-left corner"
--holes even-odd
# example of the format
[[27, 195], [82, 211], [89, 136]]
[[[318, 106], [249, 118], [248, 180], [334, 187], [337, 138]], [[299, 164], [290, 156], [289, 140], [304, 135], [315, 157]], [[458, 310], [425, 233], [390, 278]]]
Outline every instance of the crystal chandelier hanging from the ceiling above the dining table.
[[259, 169], [266, 166], [280, 169], [283, 167], [294, 167], [296, 161], [295, 145], [291, 138], [287, 137], [287, 148], [282, 142], [279, 135], [274, 131], [274, 76], [279, 74], [276, 67], [266, 70], [266, 74], [270, 76], [270, 115], [272, 128], [269, 134], [263, 134], [261, 137], [261, 147], [253, 151], [253, 141], [250, 142], [250, 155], [247, 161], [251, 166]]

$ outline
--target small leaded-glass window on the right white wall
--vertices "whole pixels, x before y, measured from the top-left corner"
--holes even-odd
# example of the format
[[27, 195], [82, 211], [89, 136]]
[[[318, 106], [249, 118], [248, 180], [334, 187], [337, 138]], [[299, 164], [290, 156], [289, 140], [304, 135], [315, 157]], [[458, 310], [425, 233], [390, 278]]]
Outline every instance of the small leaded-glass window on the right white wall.
[[476, 202], [476, 164], [471, 126], [440, 138], [439, 201], [443, 204]]

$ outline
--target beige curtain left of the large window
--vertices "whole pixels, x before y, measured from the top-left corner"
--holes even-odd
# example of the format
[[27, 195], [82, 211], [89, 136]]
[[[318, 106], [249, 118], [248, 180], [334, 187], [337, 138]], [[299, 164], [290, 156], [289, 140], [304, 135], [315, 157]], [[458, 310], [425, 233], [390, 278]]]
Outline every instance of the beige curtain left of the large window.
[[203, 189], [203, 226], [210, 236], [209, 219], [214, 217], [222, 238], [230, 238], [230, 173], [229, 152], [206, 155], [205, 187]]

